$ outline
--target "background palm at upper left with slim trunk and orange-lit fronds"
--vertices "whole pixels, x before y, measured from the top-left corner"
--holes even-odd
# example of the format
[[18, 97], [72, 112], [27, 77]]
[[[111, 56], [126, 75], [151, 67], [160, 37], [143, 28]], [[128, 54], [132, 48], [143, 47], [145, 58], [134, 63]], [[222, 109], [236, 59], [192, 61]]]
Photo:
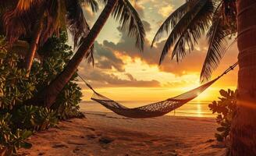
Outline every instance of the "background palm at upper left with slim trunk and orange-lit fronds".
[[[9, 6], [3, 15], [5, 34], [12, 44], [19, 37], [30, 38], [30, 50], [25, 57], [25, 68], [29, 73], [38, 44], [44, 44], [59, 29], [69, 28], [77, 46], [81, 37], [88, 34], [89, 26], [84, 18], [82, 5], [91, 5], [98, 10], [94, 0], [12, 0], [0, 6]], [[2, 7], [4, 8], [4, 7]]]

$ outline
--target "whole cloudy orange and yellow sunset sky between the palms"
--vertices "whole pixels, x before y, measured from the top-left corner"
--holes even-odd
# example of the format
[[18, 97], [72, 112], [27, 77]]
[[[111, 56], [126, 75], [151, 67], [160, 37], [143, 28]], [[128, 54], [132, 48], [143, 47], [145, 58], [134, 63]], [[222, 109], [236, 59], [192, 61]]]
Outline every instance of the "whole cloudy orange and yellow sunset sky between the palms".
[[[195, 50], [187, 54], [179, 64], [167, 56], [162, 66], [158, 66], [165, 38], [155, 44], [154, 48], [150, 48], [158, 27], [181, 4], [183, 1], [180, 0], [139, 0], [136, 4], [133, 2], [146, 30], [143, 53], [135, 48], [134, 39], [127, 37], [126, 32], [119, 29], [119, 23], [110, 17], [94, 44], [94, 67], [88, 66], [84, 60], [79, 67], [80, 75], [99, 93], [119, 101], [165, 100], [200, 85], [201, 66], [208, 49], [208, 41], [204, 37]], [[97, 14], [92, 14], [90, 9], [84, 10], [91, 27], [103, 5], [100, 8]], [[236, 62], [237, 53], [236, 44], [233, 44], [212, 78]], [[235, 89], [236, 77], [237, 69], [222, 77], [196, 100], [215, 100], [221, 88]], [[89, 100], [91, 90], [84, 83], [79, 83], [83, 88], [83, 100]]]

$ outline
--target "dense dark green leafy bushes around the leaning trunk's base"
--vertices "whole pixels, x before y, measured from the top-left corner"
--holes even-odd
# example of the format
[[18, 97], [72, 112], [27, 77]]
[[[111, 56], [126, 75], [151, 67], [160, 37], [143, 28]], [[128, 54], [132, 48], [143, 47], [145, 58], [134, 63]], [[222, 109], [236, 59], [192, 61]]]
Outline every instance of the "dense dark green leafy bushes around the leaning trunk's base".
[[69, 62], [73, 51], [66, 41], [66, 33], [50, 38], [38, 50], [40, 60], [34, 61], [27, 77], [23, 59], [7, 50], [5, 38], [0, 37], [0, 154], [10, 155], [20, 147], [30, 147], [25, 139], [32, 132], [56, 126], [59, 119], [83, 117], [79, 112], [82, 93], [75, 83], [77, 74], [66, 84], [52, 108], [23, 105], [23, 101], [51, 83]]

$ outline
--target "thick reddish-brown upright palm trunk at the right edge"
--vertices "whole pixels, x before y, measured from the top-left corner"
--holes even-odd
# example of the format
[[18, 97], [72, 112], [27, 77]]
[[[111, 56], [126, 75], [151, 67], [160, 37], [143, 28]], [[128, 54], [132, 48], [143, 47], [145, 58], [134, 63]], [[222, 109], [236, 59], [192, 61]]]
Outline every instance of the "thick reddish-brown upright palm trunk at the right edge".
[[230, 154], [256, 155], [256, 1], [237, 0], [238, 108], [231, 128]]

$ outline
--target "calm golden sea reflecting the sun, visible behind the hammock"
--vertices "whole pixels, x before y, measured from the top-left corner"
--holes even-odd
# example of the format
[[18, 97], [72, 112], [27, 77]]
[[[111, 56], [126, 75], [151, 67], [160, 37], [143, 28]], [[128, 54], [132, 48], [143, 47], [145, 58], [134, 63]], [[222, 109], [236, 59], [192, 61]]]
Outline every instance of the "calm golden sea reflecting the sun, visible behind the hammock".
[[[128, 108], [135, 108], [141, 105], [148, 105], [155, 101], [119, 101], [120, 104], [125, 105]], [[166, 115], [175, 116], [193, 116], [193, 117], [212, 117], [215, 118], [215, 114], [209, 110], [208, 105], [211, 101], [190, 101], [175, 111], [169, 112]], [[111, 112], [107, 108], [98, 104], [95, 101], [82, 101], [80, 103], [80, 110], [87, 112]]]

